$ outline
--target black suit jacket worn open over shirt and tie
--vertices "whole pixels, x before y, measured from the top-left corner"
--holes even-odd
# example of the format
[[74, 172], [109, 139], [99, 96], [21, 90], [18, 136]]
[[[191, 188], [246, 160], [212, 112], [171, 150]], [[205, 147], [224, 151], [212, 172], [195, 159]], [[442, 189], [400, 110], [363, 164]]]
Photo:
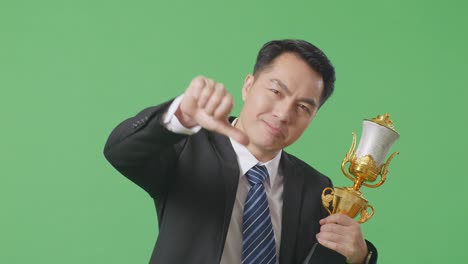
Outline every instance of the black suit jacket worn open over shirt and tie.
[[[154, 199], [159, 235], [150, 263], [219, 263], [239, 180], [236, 154], [224, 135], [204, 129], [191, 136], [168, 131], [161, 119], [170, 103], [122, 122], [104, 154]], [[280, 166], [284, 191], [279, 263], [344, 263], [342, 255], [316, 244], [315, 238], [319, 220], [327, 215], [321, 193], [331, 181], [284, 151]], [[369, 250], [375, 251], [370, 243]]]

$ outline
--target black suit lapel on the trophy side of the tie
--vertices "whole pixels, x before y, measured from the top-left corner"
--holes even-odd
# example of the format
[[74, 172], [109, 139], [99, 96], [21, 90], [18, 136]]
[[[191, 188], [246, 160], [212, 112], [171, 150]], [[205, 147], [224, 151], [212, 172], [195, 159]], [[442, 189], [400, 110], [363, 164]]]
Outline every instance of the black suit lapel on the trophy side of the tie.
[[297, 228], [302, 209], [304, 175], [298, 173], [288, 154], [283, 151], [280, 168], [284, 177], [283, 215], [279, 263], [294, 263]]

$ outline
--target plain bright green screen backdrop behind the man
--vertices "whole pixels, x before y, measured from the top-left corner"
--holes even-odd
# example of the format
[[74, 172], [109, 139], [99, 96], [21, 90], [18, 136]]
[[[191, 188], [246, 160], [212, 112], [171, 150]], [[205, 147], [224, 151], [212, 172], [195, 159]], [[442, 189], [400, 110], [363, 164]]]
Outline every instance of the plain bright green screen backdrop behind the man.
[[[389, 112], [400, 151], [363, 192], [379, 263], [468, 259], [463, 1], [2, 1], [0, 263], [147, 263], [150, 197], [102, 150], [139, 110], [199, 74], [240, 88], [271, 39], [328, 54], [336, 91], [288, 151], [349, 186], [340, 163], [361, 121]], [[466, 164], [465, 164], [466, 165]]]

